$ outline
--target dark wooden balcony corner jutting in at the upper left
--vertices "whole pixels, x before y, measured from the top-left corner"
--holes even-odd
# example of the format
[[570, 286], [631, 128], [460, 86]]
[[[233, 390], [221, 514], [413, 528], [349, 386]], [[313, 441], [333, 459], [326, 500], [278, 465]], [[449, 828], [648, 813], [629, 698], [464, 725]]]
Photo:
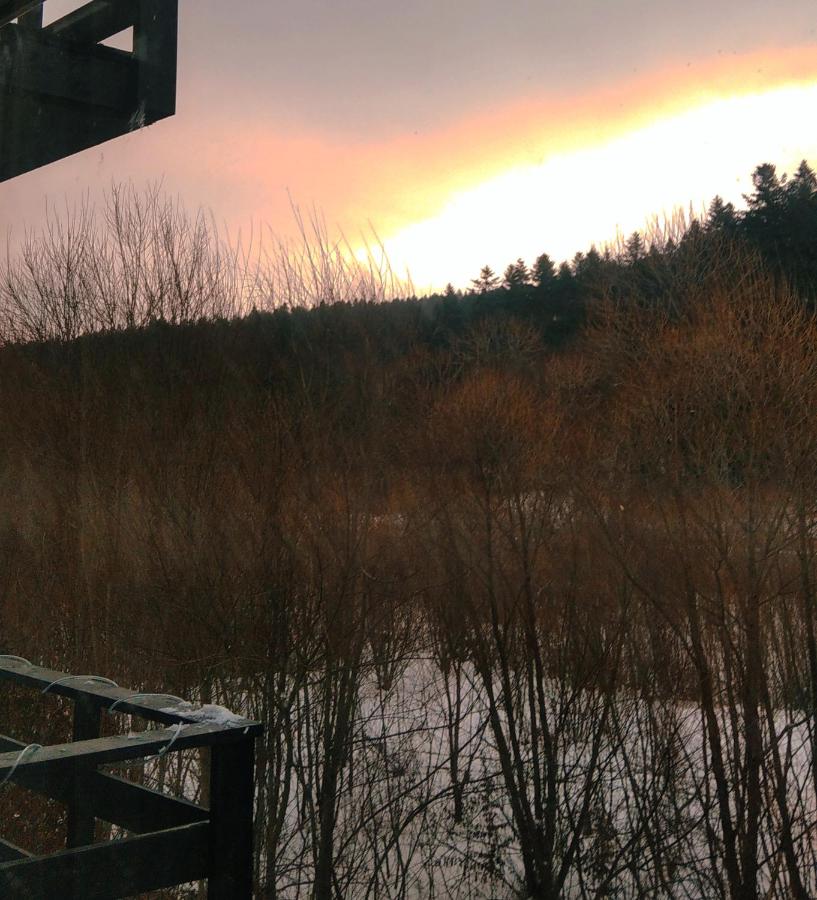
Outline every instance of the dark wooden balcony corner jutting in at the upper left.
[[[133, 28], [133, 51], [100, 42]], [[176, 111], [178, 0], [0, 0], [0, 181]]]

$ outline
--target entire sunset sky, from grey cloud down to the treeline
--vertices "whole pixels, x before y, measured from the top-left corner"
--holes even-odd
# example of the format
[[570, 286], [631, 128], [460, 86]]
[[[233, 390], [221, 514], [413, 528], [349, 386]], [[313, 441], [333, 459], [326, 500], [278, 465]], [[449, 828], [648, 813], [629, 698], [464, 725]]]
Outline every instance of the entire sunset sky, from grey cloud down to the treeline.
[[814, 0], [180, 0], [177, 115], [0, 184], [0, 233], [161, 180], [234, 238], [295, 204], [465, 287], [817, 164], [815, 112]]

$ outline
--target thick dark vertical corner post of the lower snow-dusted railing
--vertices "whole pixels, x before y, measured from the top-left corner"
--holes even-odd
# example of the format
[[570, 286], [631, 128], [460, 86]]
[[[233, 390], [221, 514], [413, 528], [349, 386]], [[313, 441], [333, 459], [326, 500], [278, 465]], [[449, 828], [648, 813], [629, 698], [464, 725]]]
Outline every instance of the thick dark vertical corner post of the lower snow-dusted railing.
[[210, 757], [208, 900], [252, 900], [255, 739], [216, 744]]

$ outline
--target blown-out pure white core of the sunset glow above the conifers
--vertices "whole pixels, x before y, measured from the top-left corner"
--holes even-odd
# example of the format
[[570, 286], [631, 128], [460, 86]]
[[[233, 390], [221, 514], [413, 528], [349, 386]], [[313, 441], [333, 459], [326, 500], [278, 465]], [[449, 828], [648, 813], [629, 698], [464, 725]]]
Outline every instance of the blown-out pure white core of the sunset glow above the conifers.
[[622, 137], [548, 156], [456, 192], [439, 214], [383, 238], [418, 288], [463, 285], [479, 260], [501, 271], [521, 256], [569, 258], [643, 230], [651, 213], [740, 200], [758, 161], [817, 159], [817, 82], [716, 100]]

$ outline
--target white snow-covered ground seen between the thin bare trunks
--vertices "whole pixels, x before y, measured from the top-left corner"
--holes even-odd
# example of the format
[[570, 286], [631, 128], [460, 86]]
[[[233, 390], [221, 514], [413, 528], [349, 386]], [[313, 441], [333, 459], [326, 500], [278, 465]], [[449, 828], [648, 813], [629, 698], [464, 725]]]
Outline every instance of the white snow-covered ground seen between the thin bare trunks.
[[[524, 896], [520, 845], [484, 683], [463, 666], [457, 697], [454, 670], [444, 676], [432, 657], [406, 660], [390, 672], [388, 683], [375, 668], [359, 682], [339, 767], [337, 890], [344, 897], [395, 900]], [[291, 693], [285, 696], [282, 687]], [[557, 862], [588, 798], [564, 895], [719, 896], [722, 826], [700, 709], [647, 703], [624, 691], [605, 704], [598, 694], [557, 682], [548, 682], [547, 692], [551, 727], [558, 734], [553, 751]], [[316, 674], [299, 686], [286, 679], [276, 682], [274, 676], [251, 683], [228, 680], [214, 686], [210, 698], [267, 725], [258, 745], [258, 878], [262, 884], [274, 879], [281, 898], [308, 896], [313, 883], [325, 729], [337, 725], [333, 696], [325, 675]], [[227, 714], [215, 704], [201, 714], [207, 709]], [[726, 764], [734, 770], [728, 775], [738, 784], [745, 748], [730, 709], [719, 707], [717, 715]], [[525, 777], [533, 796], [531, 736], [524, 720], [517, 724], [527, 742]], [[500, 711], [499, 725], [507, 726], [505, 711]], [[799, 869], [809, 893], [817, 895], [810, 723], [796, 711], [777, 711], [763, 728], [761, 886], [765, 896], [789, 896], [775, 794], [776, 785], [783, 784]], [[594, 742], [598, 746], [591, 769]], [[459, 821], [454, 816], [452, 746], [462, 790]], [[181, 788], [198, 798], [200, 762], [191, 754], [167, 757], [152, 763], [150, 775], [168, 789]], [[781, 767], [777, 774], [776, 764]], [[740, 823], [742, 795], [733, 793], [729, 803]]]

